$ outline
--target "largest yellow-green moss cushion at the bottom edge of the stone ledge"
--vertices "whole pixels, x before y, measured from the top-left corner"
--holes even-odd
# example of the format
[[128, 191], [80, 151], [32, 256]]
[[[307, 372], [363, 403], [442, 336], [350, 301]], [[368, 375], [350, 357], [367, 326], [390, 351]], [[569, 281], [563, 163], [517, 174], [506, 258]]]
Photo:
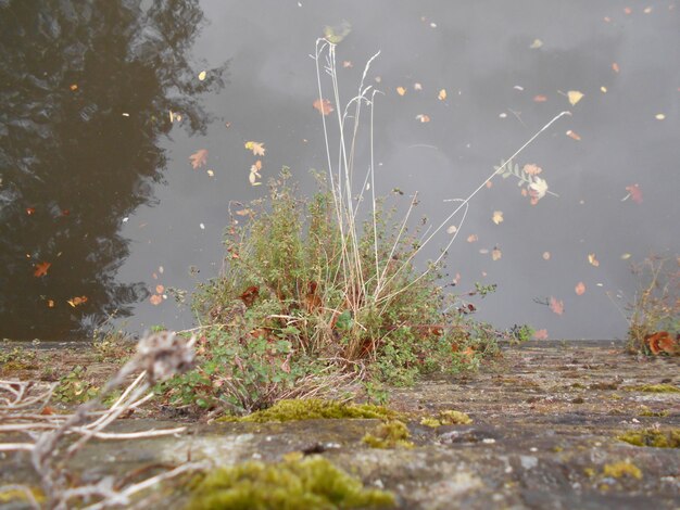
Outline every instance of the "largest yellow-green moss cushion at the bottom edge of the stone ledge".
[[193, 488], [188, 509], [333, 509], [394, 506], [390, 493], [362, 482], [323, 457], [277, 464], [245, 462], [212, 471]]

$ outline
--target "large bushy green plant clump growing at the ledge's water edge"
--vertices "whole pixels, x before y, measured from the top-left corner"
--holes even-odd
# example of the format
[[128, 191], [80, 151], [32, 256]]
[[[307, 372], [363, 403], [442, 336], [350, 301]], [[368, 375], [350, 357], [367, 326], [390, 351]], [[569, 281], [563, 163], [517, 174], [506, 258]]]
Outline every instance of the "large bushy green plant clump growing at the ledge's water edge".
[[289, 177], [234, 213], [224, 271], [194, 294], [199, 368], [161, 388], [171, 404], [243, 415], [350, 383], [410, 385], [498, 352], [493, 329], [446, 306], [441, 266], [416, 270], [417, 232], [388, 227], [379, 204], [363, 233], [347, 231], [332, 190], [305, 201]]

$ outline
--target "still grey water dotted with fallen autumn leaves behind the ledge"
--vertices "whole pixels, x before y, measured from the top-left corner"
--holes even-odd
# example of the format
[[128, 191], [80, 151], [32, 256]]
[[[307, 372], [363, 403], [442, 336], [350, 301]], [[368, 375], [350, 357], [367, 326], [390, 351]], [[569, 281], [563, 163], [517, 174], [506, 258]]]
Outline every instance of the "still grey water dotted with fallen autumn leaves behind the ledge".
[[[0, 1], [0, 337], [81, 336], [111, 315], [130, 331], [191, 327], [167, 289], [214, 277], [229, 201], [266, 193], [249, 183], [257, 157], [244, 143], [264, 142], [264, 180], [287, 165], [311, 191], [310, 168], [326, 168], [308, 55], [324, 26], [343, 21], [343, 100], [381, 50], [367, 78], [385, 92], [378, 194], [399, 188], [407, 203], [418, 191], [418, 218], [439, 224], [444, 200], [467, 196], [572, 112], [516, 160], [540, 166], [559, 196], [531, 205], [516, 179], [494, 178], [471, 201], [449, 280], [498, 283], [479, 303], [498, 327], [622, 336], [613, 301], [632, 298], [630, 263], [680, 253], [679, 11], [604, 0]], [[568, 91], [583, 97], [571, 105]], [[192, 169], [202, 149], [206, 164]], [[537, 303], [550, 297], [562, 315]]]

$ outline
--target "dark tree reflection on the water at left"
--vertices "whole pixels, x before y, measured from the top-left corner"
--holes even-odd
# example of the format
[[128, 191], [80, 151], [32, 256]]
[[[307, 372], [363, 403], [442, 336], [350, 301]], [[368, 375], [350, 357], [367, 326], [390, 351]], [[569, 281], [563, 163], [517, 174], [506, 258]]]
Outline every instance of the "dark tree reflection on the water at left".
[[146, 295], [114, 281], [118, 228], [161, 180], [169, 111], [202, 131], [226, 64], [201, 81], [187, 61], [198, 0], [142, 3], [0, 1], [0, 336], [63, 339]]

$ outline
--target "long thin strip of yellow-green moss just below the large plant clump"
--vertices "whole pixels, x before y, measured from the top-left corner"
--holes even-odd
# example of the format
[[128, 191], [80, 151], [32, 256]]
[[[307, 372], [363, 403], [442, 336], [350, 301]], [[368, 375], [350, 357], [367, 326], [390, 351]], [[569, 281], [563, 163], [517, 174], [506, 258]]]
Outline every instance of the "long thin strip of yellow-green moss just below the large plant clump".
[[332, 400], [302, 399], [280, 400], [268, 409], [255, 411], [242, 418], [224, 417], [219, 421], [248, 421], [255, 423], [285, 422], [299, 420], [376, 418], [380, 420], [398, 418], [398, 413], [382, 406], [372, 404], [349, 404]]

